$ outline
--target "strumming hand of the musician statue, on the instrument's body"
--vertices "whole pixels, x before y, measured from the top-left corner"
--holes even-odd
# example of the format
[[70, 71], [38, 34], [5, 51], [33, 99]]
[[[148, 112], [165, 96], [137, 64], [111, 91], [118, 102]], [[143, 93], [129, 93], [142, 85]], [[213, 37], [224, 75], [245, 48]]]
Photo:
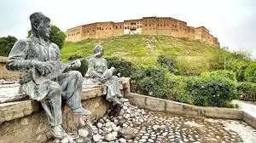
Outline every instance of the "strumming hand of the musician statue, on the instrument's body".
[[34, 66], [38, 69], [41, 75], [46, 76], [53, 71], [53, 66], [47, 62], [35, 61]]

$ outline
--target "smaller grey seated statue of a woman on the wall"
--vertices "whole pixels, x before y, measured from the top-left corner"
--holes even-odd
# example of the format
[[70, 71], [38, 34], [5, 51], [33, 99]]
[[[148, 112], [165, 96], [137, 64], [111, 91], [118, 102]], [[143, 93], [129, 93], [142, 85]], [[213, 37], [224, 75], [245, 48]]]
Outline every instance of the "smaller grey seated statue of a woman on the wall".
[[108, 87], [106, 100], [123, 106], [124, 99], [119, 89], [119, 79], [113, 76], [114, 67], [108, 69], [107, 60], [103, 57], [102, 45], [96, 45], [94, 54], [90, 56], [88, 71], [85, 74], [84, 85], [106, 85]]

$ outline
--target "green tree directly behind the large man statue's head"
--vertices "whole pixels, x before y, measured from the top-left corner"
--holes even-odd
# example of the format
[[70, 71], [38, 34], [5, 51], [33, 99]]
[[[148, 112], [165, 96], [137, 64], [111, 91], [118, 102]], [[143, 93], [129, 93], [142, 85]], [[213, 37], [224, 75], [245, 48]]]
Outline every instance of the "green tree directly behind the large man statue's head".
[[[31, 34], [32, 30], [27, 31], [27, 37], [30, 37]], [[51, 25], [51, 31], [49, 33], [50, 42], [57, 44], [61, 49], [64, 44], [65, 38], [66, 35], [64, 31], [61, 31], [61, 29], [55, 25]]]

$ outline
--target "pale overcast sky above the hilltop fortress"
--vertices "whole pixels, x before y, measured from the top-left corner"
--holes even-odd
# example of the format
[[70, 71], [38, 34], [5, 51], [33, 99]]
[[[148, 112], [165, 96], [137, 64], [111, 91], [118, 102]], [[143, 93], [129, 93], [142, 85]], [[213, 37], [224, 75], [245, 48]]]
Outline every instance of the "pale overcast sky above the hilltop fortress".
[[221, 47], [256, 58], [256, 0], [0, 0], [0, 37], [26, 37], [29, 15], [37, 11], [62, 31], [92, 22], [173, 17], [206, 26]]

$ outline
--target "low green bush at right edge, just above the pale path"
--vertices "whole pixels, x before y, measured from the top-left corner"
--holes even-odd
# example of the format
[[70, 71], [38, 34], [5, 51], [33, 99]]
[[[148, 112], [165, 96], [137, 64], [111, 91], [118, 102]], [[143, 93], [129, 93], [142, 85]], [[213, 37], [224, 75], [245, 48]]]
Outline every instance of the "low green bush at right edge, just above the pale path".
[[243, 100], [256, 99], [256, 83], [241, 82], [236, 85], [237, 93]]

